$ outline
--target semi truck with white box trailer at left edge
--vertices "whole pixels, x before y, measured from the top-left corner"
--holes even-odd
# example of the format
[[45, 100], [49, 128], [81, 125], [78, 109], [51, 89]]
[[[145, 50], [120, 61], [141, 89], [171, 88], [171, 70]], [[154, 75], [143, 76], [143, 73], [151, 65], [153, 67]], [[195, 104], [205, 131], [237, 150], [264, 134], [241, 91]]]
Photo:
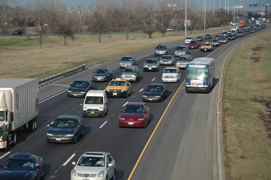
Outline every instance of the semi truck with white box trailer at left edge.
[[0, 79], [0, 149], [17, 141], [17, 129], [34, 132], [39, 115], [39, 80]]

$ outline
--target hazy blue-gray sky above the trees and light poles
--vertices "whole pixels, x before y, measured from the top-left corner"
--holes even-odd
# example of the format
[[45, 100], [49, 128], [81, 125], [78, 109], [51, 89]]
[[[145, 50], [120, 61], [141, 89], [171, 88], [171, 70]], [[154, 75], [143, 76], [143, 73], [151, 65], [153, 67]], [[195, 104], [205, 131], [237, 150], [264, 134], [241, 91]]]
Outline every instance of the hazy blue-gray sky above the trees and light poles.
[[[18, 6], [22, 6], [22, 5], [26, 5], [28, 0], [15, 0], [17, 2]], [[37, 0], [30, 0], [30, 2], [35, 2]], [[42, 1], [42, 0], [40, 0]], [[49, 0], [50, 1], [50, 0]], [[61, 2], [65, 2], [68, 6], [70, 5], [75, 5], [75, 7], [77, 7], [77, 5], [83, 5], [83, 7], [88, 7], [89, 3], [93, 4], [96, 1], [99, 0], [58, 0]], [[113, 0], [114, 2], [121, 2], [121, 0]], [[145, 0], [147, 1], [147, 0]], [[153, 0], [154, 2], [158, 2], [159, 0]], [[185, 0], [182, 0], [185, 2]], [[202, 9], [203, 7], [203, 3], [205, 2], [205, 0], [187, 0], [187, 3], [194, 3], [195, 5], [199, 4], [200, 9]], [[239, 5], [240, 0], [226, 0], [226, 7], [228, 7], [228, 2], [229, 2], [229, 7], [233, 7], [235, 5]], [[241, 0], [241, 5], [243, 5], [242, 10], [252, 10], [252, 11], [256, 11], [256, 8], [250, 8], [249, 9], [249, 5], [250, 4], [257, 4], [257, 3], [271, 3], [271, 0]], [[14, 0], [8, 0], [8, 3], [11, 5], [14, 5]], [[225, 0], [206, 0], [206, 9], [208, 10], [210, 7], [211, 9], [213, 9], [213, 5], [215, 8], [219, 8], [219, 3], [220, 3], [220, 8], [224, 8], [225, 7]], [[257, 11], [261, 11], [261, 7], [257, 7]], [[271, 7], [267, 7], [268, 10], [271, 9]], [[241, 9], [240, 9], [241, 10]]]

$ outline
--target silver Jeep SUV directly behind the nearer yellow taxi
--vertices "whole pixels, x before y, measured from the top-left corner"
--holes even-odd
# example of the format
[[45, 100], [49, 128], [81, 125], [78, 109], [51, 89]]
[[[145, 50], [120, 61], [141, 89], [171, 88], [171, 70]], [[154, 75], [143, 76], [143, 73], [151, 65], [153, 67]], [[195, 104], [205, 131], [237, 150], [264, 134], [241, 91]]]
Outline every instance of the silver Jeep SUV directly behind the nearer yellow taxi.
[[123, 71], [121, 71], [121, 78], [128, 81], [133, 81], [137, 83], [140, 78], [138, 66], [126, 66]]

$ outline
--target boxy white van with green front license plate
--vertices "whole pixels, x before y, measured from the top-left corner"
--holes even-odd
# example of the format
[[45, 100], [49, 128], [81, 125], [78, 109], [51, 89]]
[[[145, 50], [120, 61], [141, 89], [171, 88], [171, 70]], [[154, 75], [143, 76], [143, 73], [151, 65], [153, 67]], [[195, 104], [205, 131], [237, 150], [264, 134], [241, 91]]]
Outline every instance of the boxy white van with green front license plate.
[[104, 90], [89, 90], [83, 102], [83, 117], [107, 115], [107, 98]]

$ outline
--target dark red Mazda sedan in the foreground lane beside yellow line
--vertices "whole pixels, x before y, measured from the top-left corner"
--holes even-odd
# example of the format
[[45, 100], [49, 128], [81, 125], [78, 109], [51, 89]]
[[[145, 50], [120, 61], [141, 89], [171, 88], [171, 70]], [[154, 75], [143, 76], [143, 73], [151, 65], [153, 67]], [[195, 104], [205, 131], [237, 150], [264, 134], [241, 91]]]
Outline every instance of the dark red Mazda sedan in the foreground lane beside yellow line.
[[147, 127], [150, 122], [150, 108], [145, 103], [129, 102], [120, 110], [119, 128]]

